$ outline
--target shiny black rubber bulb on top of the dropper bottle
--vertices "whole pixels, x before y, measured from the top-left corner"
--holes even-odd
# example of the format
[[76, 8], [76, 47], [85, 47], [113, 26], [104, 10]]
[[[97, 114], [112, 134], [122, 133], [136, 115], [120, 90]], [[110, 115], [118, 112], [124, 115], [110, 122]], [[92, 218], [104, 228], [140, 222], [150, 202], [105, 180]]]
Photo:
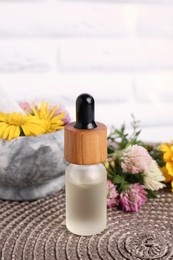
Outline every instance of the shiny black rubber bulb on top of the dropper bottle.
[[95, 123], [94, 98], [89, 94], [81, 94], [76, 99], [76, 123], [77, 129], [93, 129]]

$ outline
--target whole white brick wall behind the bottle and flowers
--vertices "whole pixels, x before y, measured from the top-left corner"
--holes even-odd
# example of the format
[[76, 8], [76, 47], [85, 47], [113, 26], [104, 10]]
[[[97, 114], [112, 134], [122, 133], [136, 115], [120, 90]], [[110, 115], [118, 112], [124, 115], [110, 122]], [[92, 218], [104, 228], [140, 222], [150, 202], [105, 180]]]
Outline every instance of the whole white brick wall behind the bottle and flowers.
[[[87, 92], [110, 127], [173, 138], [173, 0], [0, 0], [0, 88], [63, 104]], [[0, 101], [1, 103], [1, 101]]]

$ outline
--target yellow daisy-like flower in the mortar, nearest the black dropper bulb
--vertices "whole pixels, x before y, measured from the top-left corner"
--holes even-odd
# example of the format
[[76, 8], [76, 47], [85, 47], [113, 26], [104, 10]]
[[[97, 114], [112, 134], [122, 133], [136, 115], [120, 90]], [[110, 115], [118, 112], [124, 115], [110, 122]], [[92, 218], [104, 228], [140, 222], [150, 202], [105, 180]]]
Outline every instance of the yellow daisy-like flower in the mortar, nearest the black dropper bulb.
[[[49, 108], [48, 103], [41, 102], [40, 107], [33, 106], [32, 112], [38, 118], [44, 121], [45, 125], [45, 132], [51, 133], [57, 130], [60, 130], [64, 127], [64, 122], [61, 120], [64, 118], [64, 113], [56, 115], [57, 106], [54, 106], [53, 109]], [[28, 115], [32, 116], [32, 113], [27, 113]]]

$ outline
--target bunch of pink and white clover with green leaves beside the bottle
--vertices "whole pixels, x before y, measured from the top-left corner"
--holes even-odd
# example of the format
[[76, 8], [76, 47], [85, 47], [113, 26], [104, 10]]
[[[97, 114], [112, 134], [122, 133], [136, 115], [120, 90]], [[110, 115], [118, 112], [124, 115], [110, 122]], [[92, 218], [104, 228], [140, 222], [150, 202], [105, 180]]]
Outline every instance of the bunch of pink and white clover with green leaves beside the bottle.
[[[124, 124], [121, 129], [112, 129], [108, 136], [105, 167], [108, 174], [107, 206], [136, 212], [147, 198], [157, 197], [156, 191], [165, 187], [164, 158], [172, 159], [173, 152], [168, 145], [149, 145], [138, 140], [139, 122], [134, 117], [132, 129], [131, 135], [126, 133]], [[166, 180], [168, 177], [173, 180], [171, 163], [167, 168], [172, 175], [167, 173]]]

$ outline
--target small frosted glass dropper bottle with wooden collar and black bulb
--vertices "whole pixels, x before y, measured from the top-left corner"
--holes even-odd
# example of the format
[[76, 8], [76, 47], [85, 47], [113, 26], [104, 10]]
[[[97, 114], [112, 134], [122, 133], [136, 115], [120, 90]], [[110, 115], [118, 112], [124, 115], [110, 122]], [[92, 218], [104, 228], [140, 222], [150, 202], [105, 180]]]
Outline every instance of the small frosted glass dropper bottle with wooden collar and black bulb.
[[81, 236], [106, 228], [106, 180], [102, 162], [107, 157], [107, 129], [95, 123], [94, 98], [81, 94], [76, 100], [76, 122], [65, 126], [64, 157], [66, 226]]

